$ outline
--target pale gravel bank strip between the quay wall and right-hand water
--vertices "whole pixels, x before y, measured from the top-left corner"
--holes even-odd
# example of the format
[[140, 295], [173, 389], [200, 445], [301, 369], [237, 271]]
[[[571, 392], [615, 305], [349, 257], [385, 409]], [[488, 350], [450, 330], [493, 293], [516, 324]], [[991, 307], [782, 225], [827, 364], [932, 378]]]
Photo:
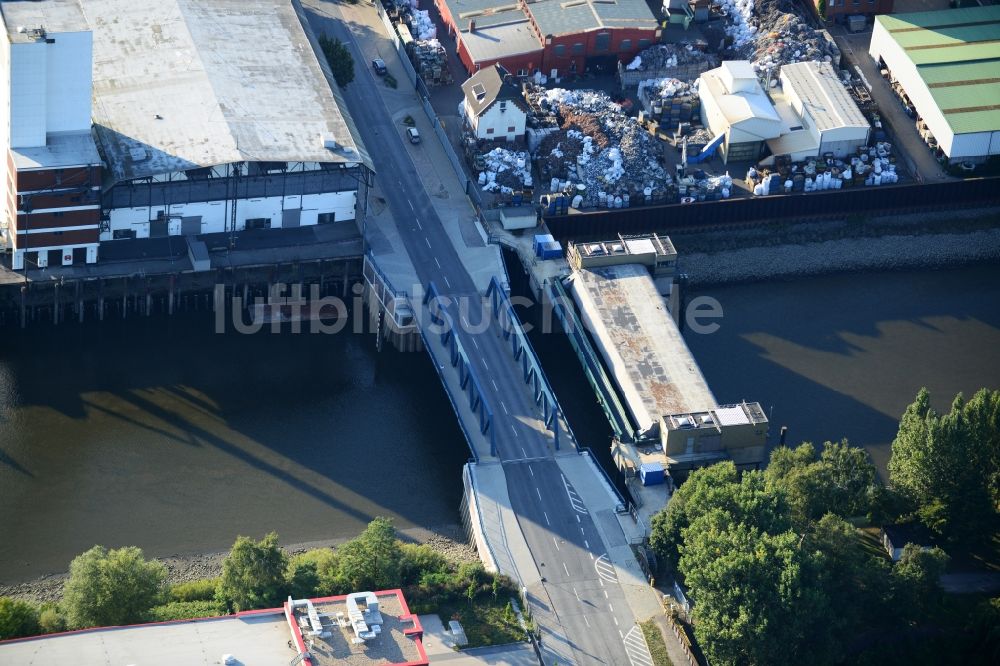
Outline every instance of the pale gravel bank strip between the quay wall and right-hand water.
[[984, 229], [969, 233], [845, 238], [714, 253], [682, 252], [677, 265], [679, 272], [687, 273], [690, 285], [700, 286], [997, 261], [1000, 261], [1000, 229]]

